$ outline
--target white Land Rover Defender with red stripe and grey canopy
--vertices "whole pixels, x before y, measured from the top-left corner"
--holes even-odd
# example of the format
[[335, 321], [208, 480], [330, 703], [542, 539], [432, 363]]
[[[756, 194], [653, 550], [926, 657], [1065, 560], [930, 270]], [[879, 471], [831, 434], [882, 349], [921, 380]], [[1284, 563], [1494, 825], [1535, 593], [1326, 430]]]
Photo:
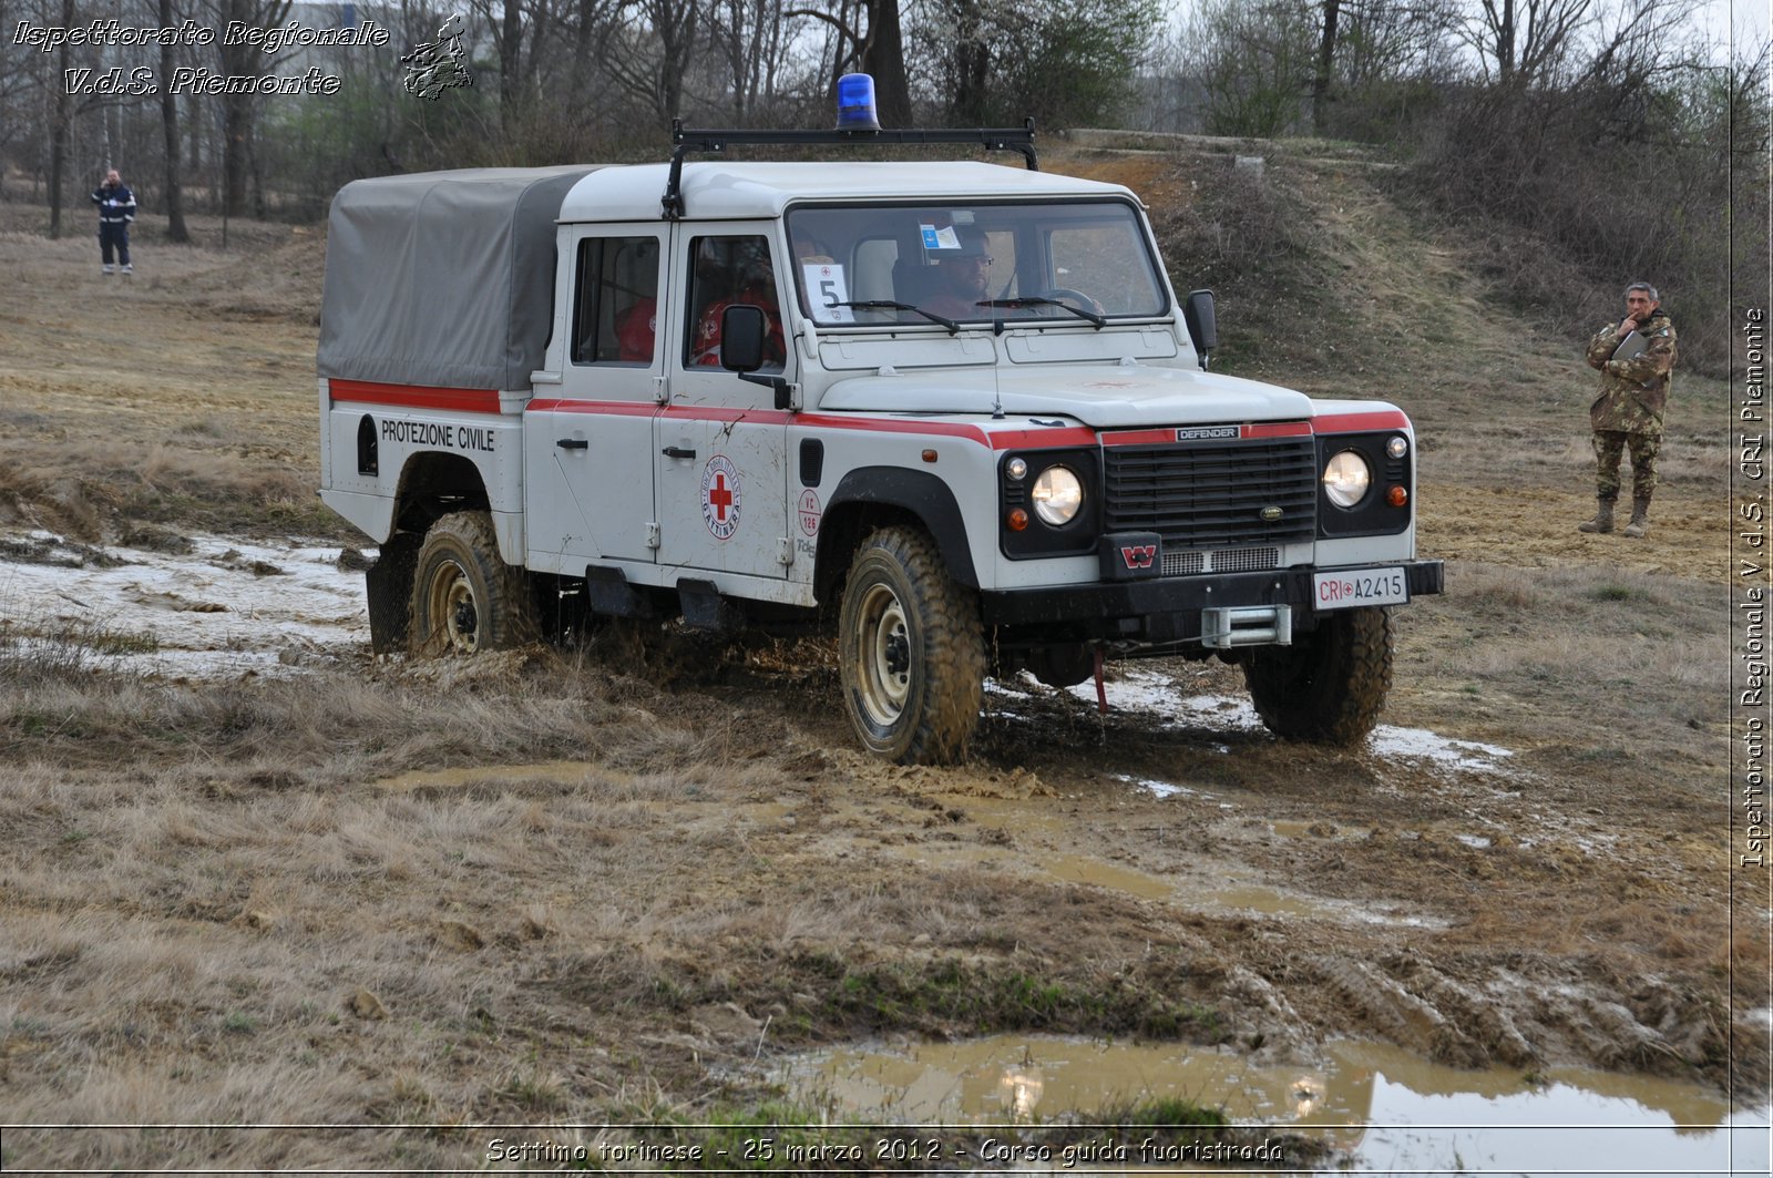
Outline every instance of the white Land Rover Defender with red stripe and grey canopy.
[[[1282, 736], [1372, 729], [1388, 609], [1441, 591], [1402, 412], [1207, 373], [1211, 294], [1032, 124], [676, 135], [333, 200], [321, 495], [381, 545], [378, 651], [835, 617], [856, 736], [902, 763], [965, 750], [986, 674], [1103, 658], [1220, 656]], [[741, 142], [1027, 169], [684, 161]]]

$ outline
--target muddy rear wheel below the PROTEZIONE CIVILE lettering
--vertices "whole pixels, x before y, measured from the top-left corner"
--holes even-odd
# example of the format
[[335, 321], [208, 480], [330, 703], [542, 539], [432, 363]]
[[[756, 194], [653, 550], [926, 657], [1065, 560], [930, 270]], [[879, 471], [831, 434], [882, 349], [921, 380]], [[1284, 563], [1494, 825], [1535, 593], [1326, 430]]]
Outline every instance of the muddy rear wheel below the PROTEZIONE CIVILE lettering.
[[433, 523], [413, 569], [413, 655], [479, 655], [535, 635], [530, 578], [498, 557], [493, 516], [457, 511]]

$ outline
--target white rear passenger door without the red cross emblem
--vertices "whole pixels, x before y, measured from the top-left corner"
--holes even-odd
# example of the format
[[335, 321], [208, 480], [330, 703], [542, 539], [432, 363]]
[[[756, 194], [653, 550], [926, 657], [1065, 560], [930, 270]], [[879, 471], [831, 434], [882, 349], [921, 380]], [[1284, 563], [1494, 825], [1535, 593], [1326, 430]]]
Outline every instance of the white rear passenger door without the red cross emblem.
[[[560, 392], [534, 410], [530, 545], [560, 566], [652, 561], [652, 417], [665, 383], [658, 225], [573, 225]], [[534, 404], [534, 403], [532, 403]], [[537, 477], [553, 468], [553, 477]], [[553, 488], [566, 495], [550, 493]]]

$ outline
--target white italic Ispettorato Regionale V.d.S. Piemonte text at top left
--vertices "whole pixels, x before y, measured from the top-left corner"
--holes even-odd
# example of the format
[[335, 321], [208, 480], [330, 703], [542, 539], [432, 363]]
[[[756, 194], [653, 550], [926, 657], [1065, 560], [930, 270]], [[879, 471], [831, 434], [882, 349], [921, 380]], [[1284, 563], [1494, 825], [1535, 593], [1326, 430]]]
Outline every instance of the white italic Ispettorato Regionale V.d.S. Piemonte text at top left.
[[[85, 25], [37, 25], [20, 21], [12, 30], [12, 44], [30, 46], [43, 53], [64, 48], [207, 48], [248, 46], [275, 55], [307, 48], [351, 48], [388, 44], [388, 30], [372, 20], [351, 28], [314, 28], [301, 21], [259, 27], [229, 21], [220, 32], [186, 18], [177, 25], [126, 25], [115, 18], [94, 20]], [[69, 94], [160, 94], [161, 78], [149, 66], [110, 66], [105, 69], [82, 66], [62, 71], [62, 85]], [[337, 94], [342, 80], [319, 66], [309, 66], [298, 75], [223, 75], [204, 66], [179, 66], [165, 80], [172, 94]]]

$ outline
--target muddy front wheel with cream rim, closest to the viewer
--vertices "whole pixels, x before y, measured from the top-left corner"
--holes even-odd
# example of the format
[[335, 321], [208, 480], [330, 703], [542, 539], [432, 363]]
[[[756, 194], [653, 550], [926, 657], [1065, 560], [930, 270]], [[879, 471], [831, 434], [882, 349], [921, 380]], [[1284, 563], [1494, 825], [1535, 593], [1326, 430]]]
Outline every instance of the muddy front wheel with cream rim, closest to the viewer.
[[837, 626], [844, 710], [869, 752], [899, 765], [965, 756], [984, 695], [979, 601], [929, 536], [888, 527], [863, 539]]

